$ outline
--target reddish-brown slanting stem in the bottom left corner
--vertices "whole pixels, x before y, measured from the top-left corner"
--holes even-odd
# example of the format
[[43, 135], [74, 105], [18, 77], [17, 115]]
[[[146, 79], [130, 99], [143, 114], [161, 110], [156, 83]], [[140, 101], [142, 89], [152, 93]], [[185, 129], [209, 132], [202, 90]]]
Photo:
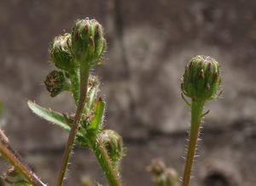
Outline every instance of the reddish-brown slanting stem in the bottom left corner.
[[0, 131], [0, 154], [15, 166], [15, 169], [20, 172], [29, 183], [35, 186], [46, 186], [32, 170], [26, 166], [21, 160], [20, 155], [9, 145], [9, 141], [3, 140], [5, 135]]

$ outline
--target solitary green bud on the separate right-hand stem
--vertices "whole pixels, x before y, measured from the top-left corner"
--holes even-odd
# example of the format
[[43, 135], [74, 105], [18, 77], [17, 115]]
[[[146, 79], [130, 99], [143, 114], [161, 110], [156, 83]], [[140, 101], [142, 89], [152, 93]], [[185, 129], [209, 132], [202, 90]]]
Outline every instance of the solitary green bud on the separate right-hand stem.
[[221, 77], [215, 59], [197, 55], [185, 67], [181, 88], [191, 99], [206, 101], [218, 97]]

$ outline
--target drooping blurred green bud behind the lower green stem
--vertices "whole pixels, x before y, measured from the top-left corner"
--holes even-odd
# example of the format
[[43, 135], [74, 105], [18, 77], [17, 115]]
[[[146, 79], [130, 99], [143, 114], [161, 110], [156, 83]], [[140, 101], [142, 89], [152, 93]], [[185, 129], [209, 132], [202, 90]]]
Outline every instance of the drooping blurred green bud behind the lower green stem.
[[113, 130], [103, 130], [101, 138], [111, 161], [113, 161], [113, 164], [118, 163], [125, 155], [122, 137]]

